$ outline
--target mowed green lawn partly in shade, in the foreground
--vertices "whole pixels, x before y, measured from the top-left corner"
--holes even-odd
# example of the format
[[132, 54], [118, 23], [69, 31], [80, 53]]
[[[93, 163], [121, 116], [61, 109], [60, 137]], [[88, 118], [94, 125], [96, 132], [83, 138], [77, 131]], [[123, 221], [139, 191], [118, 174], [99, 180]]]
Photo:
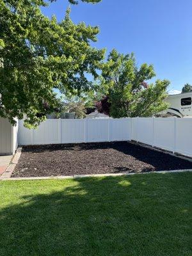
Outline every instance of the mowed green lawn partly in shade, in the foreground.
[[2, 256], [192, 255], [192, 173], [0, 182]]

